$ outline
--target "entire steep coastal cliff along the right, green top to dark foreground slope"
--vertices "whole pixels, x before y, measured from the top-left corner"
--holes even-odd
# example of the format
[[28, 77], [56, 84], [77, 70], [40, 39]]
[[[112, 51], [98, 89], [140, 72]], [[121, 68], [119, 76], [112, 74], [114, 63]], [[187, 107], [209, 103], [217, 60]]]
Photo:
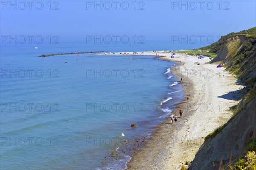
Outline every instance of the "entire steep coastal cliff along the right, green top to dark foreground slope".
[[256, 138], [256, 27], [250, 30], [253, 35], [230, 33], [202, 48], [218, 53], [212, 63], [224, 63], [246, 88], [242, 101], [233, 110], [233, 118], [218, 130], [219, 133], [206, 138], [189, 170], [218, 170], [220, 163], [227, 169], [230, 155], [234, 165], [245, 154], [250, 139]]

